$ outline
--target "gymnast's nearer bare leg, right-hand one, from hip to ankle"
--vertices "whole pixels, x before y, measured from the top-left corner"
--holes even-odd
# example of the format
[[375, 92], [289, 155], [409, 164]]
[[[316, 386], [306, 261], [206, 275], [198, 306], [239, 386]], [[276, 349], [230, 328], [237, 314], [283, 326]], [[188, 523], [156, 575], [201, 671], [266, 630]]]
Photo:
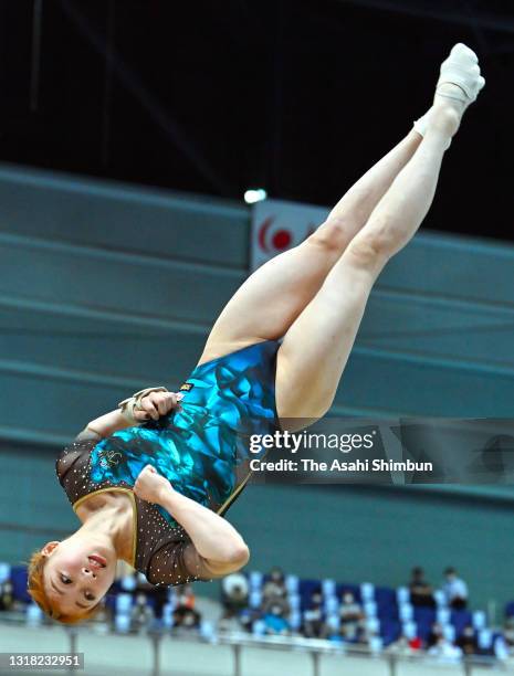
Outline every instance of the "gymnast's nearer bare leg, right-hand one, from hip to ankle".
[[[483, 86], [480, 70], [475, 75], [474, 66], [469, 67], [476, 87]], [[432, 203], [442, 158], [466, 107], [447, 97], [459, 89], [454, 84], [438, 89], [418, 150], [285, 335], [277, 358], [276, 406], [281, 419], [308, 419], [296, 429], [323, 416], [332, 405], [371, 286]], [[285, 426], [293, 431], [295, 423]]]

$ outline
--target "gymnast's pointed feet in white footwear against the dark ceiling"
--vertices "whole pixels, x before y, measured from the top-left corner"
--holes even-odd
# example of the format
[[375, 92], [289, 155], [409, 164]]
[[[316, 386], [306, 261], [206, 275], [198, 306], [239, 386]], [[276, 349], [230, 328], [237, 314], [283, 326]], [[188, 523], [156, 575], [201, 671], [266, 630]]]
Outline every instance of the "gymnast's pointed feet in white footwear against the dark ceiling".
[[484, 85], [476, 54], [462, 42], [457, 43], [441, 64], [432, 107], [415, 122], [415, 129], [424, 136], [429, 124], [433, 123], [451, 139], [459, 129], [464, 110], [476, 101]]

